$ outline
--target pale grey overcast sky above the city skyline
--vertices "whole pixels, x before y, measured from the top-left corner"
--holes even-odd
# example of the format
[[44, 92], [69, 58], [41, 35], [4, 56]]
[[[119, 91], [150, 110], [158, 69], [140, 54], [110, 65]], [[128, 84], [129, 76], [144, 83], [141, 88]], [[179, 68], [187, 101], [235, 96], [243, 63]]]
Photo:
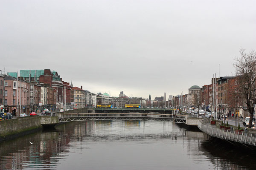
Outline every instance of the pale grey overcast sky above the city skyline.
[[0, 69], [93, 93], [186, 94], [232, 76], [240, 47], [256, 49], [256, 0], [0, 0]]

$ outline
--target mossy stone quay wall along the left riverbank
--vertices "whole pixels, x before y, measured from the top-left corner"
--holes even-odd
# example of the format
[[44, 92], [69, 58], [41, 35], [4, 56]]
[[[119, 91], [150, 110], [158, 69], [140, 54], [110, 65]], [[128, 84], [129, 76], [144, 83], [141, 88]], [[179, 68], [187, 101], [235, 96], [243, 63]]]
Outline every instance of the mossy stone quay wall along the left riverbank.
[[58, 116], [27, 116], [0, 121], [0, 141], [33, 133], [44, 126], [57, 125], [58, 122]]

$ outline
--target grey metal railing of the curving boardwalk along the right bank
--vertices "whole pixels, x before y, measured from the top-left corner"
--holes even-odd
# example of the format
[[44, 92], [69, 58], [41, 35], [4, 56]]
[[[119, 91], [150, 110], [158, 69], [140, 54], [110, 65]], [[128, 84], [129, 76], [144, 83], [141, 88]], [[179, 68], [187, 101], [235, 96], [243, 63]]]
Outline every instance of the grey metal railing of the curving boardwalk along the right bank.
[[256, 146], [256, 134], [234, 129], [223, 129], [209, 125], [209, 119], [198, 122], [198, 128], [209, 136]]

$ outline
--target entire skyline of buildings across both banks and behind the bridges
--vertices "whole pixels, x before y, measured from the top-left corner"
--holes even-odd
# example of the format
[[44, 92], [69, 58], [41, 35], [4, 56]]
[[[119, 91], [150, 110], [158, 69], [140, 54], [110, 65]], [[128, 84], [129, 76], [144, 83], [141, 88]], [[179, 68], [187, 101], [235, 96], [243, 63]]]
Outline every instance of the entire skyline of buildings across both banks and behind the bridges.
[[71, 108], [94, 108], [97, 103], [111, 103], [114, 108], [124, 108], [125, 104], [140, 104], [142, 108], [200, 108], [226, 114], [239, 114], [243, 111], [231, 107], [231, 96], [228, 88], [235, 86], [235, 77], [212, 78], [211, 84], [193, 85], [188, 94], [177, 96], [169, 95], [148, 99], [142, 97], [128, 97], [123, 91], [119, 96], [110, 96], [107, 93], [94, 94], [83, 87], [73, 87], [73, 83], [65, 82], [56, 71], [20, 70], [0, 74], [0, 109], [1, 112], [30, 113], [49, 109], [59, 111]]

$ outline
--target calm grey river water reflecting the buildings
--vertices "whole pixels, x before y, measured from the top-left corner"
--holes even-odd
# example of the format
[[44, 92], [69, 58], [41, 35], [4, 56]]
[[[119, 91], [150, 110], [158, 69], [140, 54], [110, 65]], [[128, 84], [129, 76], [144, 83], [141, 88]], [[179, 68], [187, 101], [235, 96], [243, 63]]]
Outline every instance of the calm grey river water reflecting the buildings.
[[0, 170], [249, 170], [255, 160], [172, 122], [69, 122], [0, 143]]

